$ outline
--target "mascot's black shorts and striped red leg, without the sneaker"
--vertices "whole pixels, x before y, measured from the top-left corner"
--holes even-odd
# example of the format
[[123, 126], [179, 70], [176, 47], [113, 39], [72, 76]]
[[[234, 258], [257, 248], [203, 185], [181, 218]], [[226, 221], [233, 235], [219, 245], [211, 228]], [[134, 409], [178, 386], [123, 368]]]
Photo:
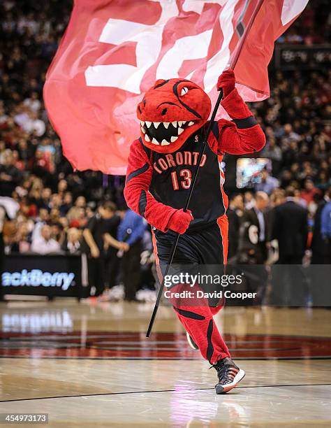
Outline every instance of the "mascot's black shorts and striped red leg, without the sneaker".
[[[199, 253], [198, 257], [203, 261], [203, 264], [222, 265], [227, 248], [227, 245], [224, 245], [227, 239], [227, 229], [223, 227], [222, 220], [220, 223], [215, 222], [214, 227], [208, 231], [203, 231], [203, 234], [200, 236], [183, 236], [182, 241], [179, 242], [179, 251], [177, 257], [175, 257], [177, 260], [174, 261], [174, 264], [176, 264], [177, 261], [178, 264], [184, 265], [187, 268], [189, 262], [193, 262], [194, 260], [193, 255], [190, 253], [193, 252]], [[227, 226], [227, 218], [225, 218], [225, 220], [225, 225]], [[223, 233], [225, 233], [226, 236], [225, 234], [223, 235]], [[161, 283], [163, 280], [162, 270], [164, 269], [162, 269], [161, 266], [165, 266], [168, 261], [169, 247], [172, 242], [170, 241], [170, 243], [168, 243], [168, 241], [166, 241], [164, 243], [163, 241], [159, 241], [159, 239], [156, 240], [154, 233], [152, 234], [152, 240], [156, 259], [156, 271]], [[189, 241], [186, 242], [186, 240]], [[183, 255], [189, 257], [188, 255], [190, 254], [192, 259], [188, 261], [183, 259]], [[159, 259], [159, 257], [161, 259]], [[193, 290], [196, 291], [197, 289], [198, 287], [195, 287]], [[175, 285], [175, 287], [172, 286], [167, 292], [168, 300], [171, 302], [179, 321], [191, 338], [193, 338], [196, 345], [198, 345], [201, 355], [211, 364], [215, 364], [219, 359], [230, 357], [228, 347], [223, 341], [213, 320], [213, 315], [218, 313], [223, 307], [222, 302], [209, 302], [205, 298], [197, 299], [196, 297], [192, 299], [187, 297], [173, 297], [175, 292], [192, 292], [192, 288], [187, 284]]]

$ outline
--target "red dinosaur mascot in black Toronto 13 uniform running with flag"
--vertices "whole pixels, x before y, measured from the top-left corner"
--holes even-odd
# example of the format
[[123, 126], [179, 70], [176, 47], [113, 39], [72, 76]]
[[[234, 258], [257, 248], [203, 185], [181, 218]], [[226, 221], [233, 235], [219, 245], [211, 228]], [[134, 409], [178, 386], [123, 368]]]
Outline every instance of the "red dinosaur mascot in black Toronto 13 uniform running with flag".
[[[224, 153], [242, 155], [261, 150], [265, 136], [235, 89], [235, 74], [223, 71], [217, 83], [221, 105], [232, 120], [214, 122], [193, 189], [190, 211], [184, 212], [196, 169], [211, 101], [196, 83], [157, 80], [137, 107], [140, 138], [128, 157], [124, 195], [128, 206], [152, 226], [159, 275], [165, 270], [176, 234], [181, 234], [174, 264], [226, 264], [228, 199], [223, 191]], [[230, 357], [213, 320], [221, 306], [178, 304], [170, 299], [190, 345], [217, 371], [216, 394], [230, 391], [244, 377]]]

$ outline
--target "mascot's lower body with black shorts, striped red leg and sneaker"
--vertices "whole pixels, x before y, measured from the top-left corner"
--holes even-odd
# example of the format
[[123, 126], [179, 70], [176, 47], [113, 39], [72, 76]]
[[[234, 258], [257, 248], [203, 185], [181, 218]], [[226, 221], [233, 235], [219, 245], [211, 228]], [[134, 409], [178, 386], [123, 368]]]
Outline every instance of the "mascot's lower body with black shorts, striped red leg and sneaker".
[[[215, 222], [212, 227], [205, 229], [203, 233], [183, 235], [179, 240], [174, 265], [176, 265], [176, 262], [178, 265], [185, 266], [186, 264], [186, 267], [191, 264], [190, 266], [194, 271], [198, 263], [216, 264], [218, 266], [225, 264], [227, 234], [226, 236], [223, 235], [222, 232], [224, 231], [222, 224]], [[168, 262], [172, 240], [164, 235], [163, 238], [161, 236], [156, 240], [156, 236], [153, 233], [153, 243], [156, 269], [159, 274], [159, 280], [162, 283], [162, 266], [164, 269]], [[159, 260], [159, 256], [161, 260]], [[174, 269], [177, 268], [174, 266]], [[195, 286], [195, 291], [198, 289], [199, 287]], [[190, 345], [193, 341], [194, 345], [198, 346], [201, 355], [216, 370], [219, 378], [219, 382], [215, 385], [216, 394], [224, 394], [235, 387], [242, 380], [245, 373], [231, 359], [228, 347], [223, 341], [213, 319], [213, 315], [223, 307], [223, 302], [208, 301], [205, 297], [197, 298], [196, 293], [193, 293], [193, 298], [191, 298], [187, 294], [190, 291], [192, 292], [190, 284], [175, 285], [167, 290], [166, 297], [170, 300], [187, 334], [191, 336], [191, 338], [188, 338], [192, 339], [189, 340]], [[175, 296], [176, 292], [179, 292], [182, 297], [178, 297], [179, 294]], [[181, 294], [182, 292], [184, 293]]]

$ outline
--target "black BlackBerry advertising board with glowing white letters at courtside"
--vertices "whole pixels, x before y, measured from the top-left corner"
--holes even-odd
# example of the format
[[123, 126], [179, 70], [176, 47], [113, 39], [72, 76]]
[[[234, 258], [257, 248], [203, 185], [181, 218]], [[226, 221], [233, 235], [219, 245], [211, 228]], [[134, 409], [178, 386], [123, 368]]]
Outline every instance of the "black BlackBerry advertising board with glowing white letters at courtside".
[[1, 274], [3, 294], [82, 297], [79, 255], [8, 255]]

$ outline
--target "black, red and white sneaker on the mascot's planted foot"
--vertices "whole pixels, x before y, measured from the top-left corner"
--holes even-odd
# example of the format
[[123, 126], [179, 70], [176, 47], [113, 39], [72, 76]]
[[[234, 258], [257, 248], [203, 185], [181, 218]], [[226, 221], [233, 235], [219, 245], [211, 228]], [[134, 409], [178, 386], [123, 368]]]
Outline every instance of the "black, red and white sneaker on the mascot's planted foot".
[[226, 394], [240, 383], [245, 372], [235, 365], [232, 359], [226, 357], [219, 360], [212, 367], [216, 369], [219, 383], [215, 385], [216, 394]]

